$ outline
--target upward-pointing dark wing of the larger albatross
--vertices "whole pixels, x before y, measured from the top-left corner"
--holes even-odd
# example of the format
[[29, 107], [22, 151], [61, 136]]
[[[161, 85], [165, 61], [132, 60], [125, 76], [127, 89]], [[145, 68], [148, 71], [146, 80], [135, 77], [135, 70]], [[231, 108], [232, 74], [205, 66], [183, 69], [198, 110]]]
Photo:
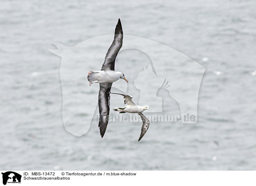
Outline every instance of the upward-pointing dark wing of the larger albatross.
[[115, 70], [116, 55], [118, 54], [120, 48], [122, 47], [122, 38], [123, 38], [122, 25], [121, 25], [120, 19], [118, 19], [116, 30], [115, 30], [114, 41], [111, 44], [110, 48], [108, 49], [108, 52], [106, 54], [105, 61], [102, 65], [101, 70], [105, 70], [105, 71]]

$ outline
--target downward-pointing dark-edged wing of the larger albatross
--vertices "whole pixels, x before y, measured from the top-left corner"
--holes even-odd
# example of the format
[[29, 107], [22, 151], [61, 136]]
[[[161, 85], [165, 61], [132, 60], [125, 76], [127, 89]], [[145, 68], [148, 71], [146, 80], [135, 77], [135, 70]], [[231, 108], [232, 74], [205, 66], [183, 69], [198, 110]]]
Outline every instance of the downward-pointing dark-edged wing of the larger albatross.
[[112, 83], [99, 84], [99, 131], [104, 136], [108, 125], [110, 90]]

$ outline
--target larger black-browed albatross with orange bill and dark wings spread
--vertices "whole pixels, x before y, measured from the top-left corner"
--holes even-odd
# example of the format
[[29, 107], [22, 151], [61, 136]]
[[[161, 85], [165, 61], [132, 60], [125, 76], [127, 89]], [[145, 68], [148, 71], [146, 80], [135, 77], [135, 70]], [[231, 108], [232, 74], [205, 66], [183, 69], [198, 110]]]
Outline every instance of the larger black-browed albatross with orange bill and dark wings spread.
[[112, 83], [119, 78], [128, 82], [123, 73], [114, 71], [116, 55], [122, 47], [122, 39], [122, 25], [120, 19], [118, 19], [114, 40], [108, 49], [102, 69], [99, 71], [90, 71], [87, 76], [90, 86], [92, 83], [99, 83], [99, 131], [101, 137], [104, 136], [108, 125], [110, 90]]

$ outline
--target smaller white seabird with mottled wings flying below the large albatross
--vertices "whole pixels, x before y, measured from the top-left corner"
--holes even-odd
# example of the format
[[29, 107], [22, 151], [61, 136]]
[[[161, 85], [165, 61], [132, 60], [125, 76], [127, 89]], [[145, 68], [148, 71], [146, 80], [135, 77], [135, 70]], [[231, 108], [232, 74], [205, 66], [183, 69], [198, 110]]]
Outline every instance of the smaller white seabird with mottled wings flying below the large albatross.
[[[112, 93], [112, 94], [119, 94], [119, 93]], [[131, 101], [132, 96], [128, 96], [126, 94], [119, 94], [124, 96], [124, 102], [127, 106], [125, 107], [121, 107], [121, 108], [115, 108], [113, 110], [119, 112], [119, 113], [138, 113], [143, 121], [143, 125], [141, 128], [141, 133], [140, 133], [140, 138], [138, 141], [140, 141], [140, 139], [146, 134], [146, 132], [148, 131], [148, 126], [149, 126], [149, 120], [143, 115], [143, 111], [144, 110], [148, 110], [149, 107], [148, 106], [144, 106], [141, 107], [139, 105], [136, 105], [133, 101]]]

